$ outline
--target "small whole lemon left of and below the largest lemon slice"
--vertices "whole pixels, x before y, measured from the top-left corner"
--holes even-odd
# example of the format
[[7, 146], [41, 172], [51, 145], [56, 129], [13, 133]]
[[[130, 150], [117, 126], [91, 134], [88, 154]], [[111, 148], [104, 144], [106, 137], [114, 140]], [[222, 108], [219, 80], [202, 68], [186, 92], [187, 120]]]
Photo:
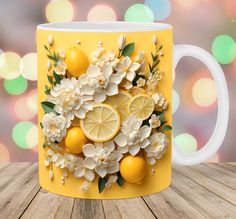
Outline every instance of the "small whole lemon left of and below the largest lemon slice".
[[71, 153], [81, 153], [82, 147], [88, 143], [88, 139], [79, 127], [70, 128], [65, 137], [65, 147]]

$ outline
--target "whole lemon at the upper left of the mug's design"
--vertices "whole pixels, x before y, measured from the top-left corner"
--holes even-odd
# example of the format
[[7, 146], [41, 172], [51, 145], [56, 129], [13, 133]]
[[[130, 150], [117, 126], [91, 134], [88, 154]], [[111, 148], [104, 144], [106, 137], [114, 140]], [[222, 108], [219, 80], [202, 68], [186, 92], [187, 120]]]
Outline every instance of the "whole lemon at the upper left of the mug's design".
[[79, 77], [86, 73], [89, 66], [89, 60], [86, 54], [75, 46], [67, 51], [65, 63], [68, 73], [74, 77]]

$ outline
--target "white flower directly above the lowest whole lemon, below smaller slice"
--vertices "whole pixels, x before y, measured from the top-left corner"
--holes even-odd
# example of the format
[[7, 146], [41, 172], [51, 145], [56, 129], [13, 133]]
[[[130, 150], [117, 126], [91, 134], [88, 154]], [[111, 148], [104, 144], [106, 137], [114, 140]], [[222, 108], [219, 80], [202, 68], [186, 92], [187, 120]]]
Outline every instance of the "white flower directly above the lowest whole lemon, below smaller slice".
[[147, 125], [141, 127], [142, 123], [141, 119], [134, 116], [122, 123], [121, 133], [114, 139], [122, 153], [129, 152], [134, 156], [141, 148], [146, 148], [150, 144], [148, 137], [152, 129]]

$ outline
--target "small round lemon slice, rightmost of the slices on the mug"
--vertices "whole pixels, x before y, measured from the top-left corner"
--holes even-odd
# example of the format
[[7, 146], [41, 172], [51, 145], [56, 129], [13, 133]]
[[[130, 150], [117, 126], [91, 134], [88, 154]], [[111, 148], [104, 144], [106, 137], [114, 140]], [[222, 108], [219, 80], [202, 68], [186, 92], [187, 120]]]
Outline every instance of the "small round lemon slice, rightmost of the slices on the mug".
[[128, 109], [130, 115], [145, 120], [151, 116], [154, 110], [154, 102], [148, 95], [139, 94], [131, 100]]

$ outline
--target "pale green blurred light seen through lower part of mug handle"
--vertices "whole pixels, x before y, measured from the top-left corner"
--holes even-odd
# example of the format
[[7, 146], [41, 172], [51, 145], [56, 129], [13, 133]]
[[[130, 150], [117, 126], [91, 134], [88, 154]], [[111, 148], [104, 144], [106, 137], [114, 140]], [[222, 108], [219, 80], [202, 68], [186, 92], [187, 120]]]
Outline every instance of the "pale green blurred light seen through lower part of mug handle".
[[188, 133], [177, 135], [174, 141], [183, 153], [190, 154], [197, 151], [197, 140]]

